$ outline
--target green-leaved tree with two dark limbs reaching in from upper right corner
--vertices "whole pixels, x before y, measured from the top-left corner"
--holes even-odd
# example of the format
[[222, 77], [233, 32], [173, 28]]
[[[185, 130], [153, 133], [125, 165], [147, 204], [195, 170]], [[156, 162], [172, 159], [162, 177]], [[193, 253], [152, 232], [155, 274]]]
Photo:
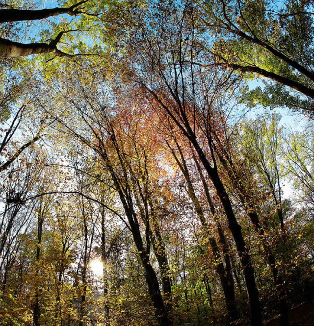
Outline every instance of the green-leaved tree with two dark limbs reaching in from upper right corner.
[[268, 83], [264, 92], [257, 88], [251, 93], [255, 101], [286, 104], [311, 114], [313, 15], [308, 1], [219, 0], [207, 1], [202, 8], [200, 24], [217, 35], [209, 48], [215, 64], [258, 74], [299, 92], [291, 95], [276, 83]]

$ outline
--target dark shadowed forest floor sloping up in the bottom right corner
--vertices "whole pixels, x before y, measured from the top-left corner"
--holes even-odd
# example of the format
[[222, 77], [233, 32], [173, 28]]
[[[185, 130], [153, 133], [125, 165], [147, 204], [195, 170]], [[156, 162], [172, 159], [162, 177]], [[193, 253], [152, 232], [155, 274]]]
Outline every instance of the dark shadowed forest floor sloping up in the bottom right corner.
[[[291, 309], [289, 322], [290, 326], [314, 326], [314, 300]], [[280, 326], [279, 317], [266, 322], [265, 326]]]

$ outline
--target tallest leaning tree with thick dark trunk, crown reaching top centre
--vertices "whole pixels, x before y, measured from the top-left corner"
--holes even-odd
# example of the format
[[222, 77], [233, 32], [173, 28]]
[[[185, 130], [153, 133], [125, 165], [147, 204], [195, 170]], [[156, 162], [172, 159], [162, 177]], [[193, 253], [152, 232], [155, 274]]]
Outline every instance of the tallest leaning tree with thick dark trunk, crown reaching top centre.
[[[142, 63], [140, 68], [134, 71], [133, 78], [140, 85], [143, 96], [149, 99], [151, 106], [162, 110], [163, 114], [177, 125], [182, 135], [192, 144], [198, 160], [204, 166], [222, 204], [229, 229], [235, 240], [250, 300], [252, 325], [262, 325], [259, 292], [250, 253], [245, 244], [241, 226], [237, 222], [231, 199], [219, 175], [212, 149], [212, 139], [206, 138], [209, 134], [203, 133], [203, 130], [214, 126], [211, 122], [212, 105], [216, 100], [216, 94], [223, 93], [222, 85], [229, 84], [230, 76], [220, 75], [219, 70], [209, 73], [202, 69], [196, 70], [197, 65], [186, 65], [186, 61], [189, 61], [191, 57], [193, 62], [198, 61], [198, 52], [194, 49], [194, 41], [196, 42], [197, 38], [194, 34], [192, 5], [184, 3], [181, 8], [177, 7], [175, 10], [177, 14], [180, 10], [181, 15], [171, 17], [174, 24], [180, 26], [179, 30], [169, 25], [154, 29], [154, 26], [159, 26], [170, 19], [168, 8], [157, 9], [160, 10], [158, 14], [153, 12], [152, 16], [149, 16], [149, 20], [154, 23], [149, 28], [142, 25], [141, 35], [136, 35], [133, 41], [136, 46], [131, 48], [130, 56], [139, 56], [140, 60], [138, 59], [137, 62]], [[155, 43], [156, 35], [153, 37], [148, 33], [150, 29], [159, 38], [157, 44]], [[167, 45], [169, 43], [170, 46]], [[154, 75], [154, 83], [151, 83], [151, 75], [147, 78], [147, 70]], [[201, 94], [196, 93], [197, 82], [199, 83], [198, 89], [204, 90]], [[208, 88], [207, 85], [211, 87]], [[218, 85], [221, 88], [218, 88]], [[205, 141], [207, 143], [204, 143]]]

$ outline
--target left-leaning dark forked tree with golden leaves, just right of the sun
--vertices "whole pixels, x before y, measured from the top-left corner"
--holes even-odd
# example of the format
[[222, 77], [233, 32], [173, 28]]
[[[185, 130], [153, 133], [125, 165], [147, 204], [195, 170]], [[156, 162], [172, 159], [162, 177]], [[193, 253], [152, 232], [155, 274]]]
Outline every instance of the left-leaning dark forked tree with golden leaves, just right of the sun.
[[[75, 82], [77, 83], [79, 80]], [[89, 91], [102, 91], [101, 88], [95, 89], [95, 86], [96, 84]], [[111, 114], [113, 109], [110, 106], [104, 106], [102, 103], [104, 99], [96, 96], [91, 97], [93, 93], [88, 94], [85, 88], [81, 88], [81, 92], [81, 98], [78, 101], [72, 99], [71, 105], [68, 106], [68, 108], [69, 110], [74, 109], [74, 112], [76, 112], [75, 114], [79, 114], [83, 122], [82, 128], [87, 132], [84, 134], [78, 133], [76, 129], [72, 127], [72, 122], [70, 120], [64, 121], [59, 119], [59, 122], [63, 125], [64, 132], [74, 136], [80, 140], [86, 148], [95, 152], [97, 160], [100, 160], [103, 167], [105, 167], [110, 180], [110, 187], [115, 189], [116, 195], [123, 207], [126, 220], [116, 210], [112, 210], [112, 212], [114, 212], [131, 231], [134, 244], [145, 270], [146, 283], [151, 300], [156, 309], [158, 324], [171, 325], [171, 319], [168, 316], [167, 308], [161, 296], [157, 274], [150, 262], [151, 244], [156, 241], [155, 245], [158, 245], [158, 249], [156, 248], [157, 253], [155, 254], [159, 255], [157, 259], [163, 259], [162, 262], [159, 260], [162, 264], [161, 270], [167, 269], [167, 261], [164, 259], [165, 251], [163, 249], [163, 243], [158, 231], [157, 222], [154, 222], [154, 213], [152, 213], [154, 211], [153, 201], [147, 197], [148, 192], [145, 190], [145, 183], [148, 182], [148, 180], [145, 179], [147, 175], [145, 164], [143, 170], [137, 171], [137, 175], [135, 176], [134, 172], [131, 170], [134, 163], [128, 162], [128, 156], [124, 150], [123, 139], [119, 139], [119, 131], [129, 131], [128, 125], [119, 126], [117, 120], [119, 116], [114, 119], [114, 115]], [[81, 99], [85, 99], [86, 103], [82, 105]], [[90, 101], [91, 99], [92, 101]], [[109, 98], [107, 102], [110, 103]], [[115, 110], [117, 112], [118, 107], [115, 107]], [[136, 129], [135, 131], [130, 130], [129, 132], [136, 132]], [[142, 167], [140, 167], [140, 169], [142, 169]], [[143, 186], [141, 185], [142, 180], [144, 182]], [[135, 193], [135, 190], [139, 192], [139, 195]], [[138, 196], [141, 196], [141, 198]], [[151, 219], [148, 216], [148, 205], [151, 208], [151, 215], [153, 215]], [[141, 220], [139, 220], [138, 217], [140, 217]], [[152, 238], [151, 232], [153, 227], [156, 240]], [[169, 283], [169, 276], [164, 275], [163, 280]], [[169, 284], [164, 286], [164, 291], [170, 290]]]

